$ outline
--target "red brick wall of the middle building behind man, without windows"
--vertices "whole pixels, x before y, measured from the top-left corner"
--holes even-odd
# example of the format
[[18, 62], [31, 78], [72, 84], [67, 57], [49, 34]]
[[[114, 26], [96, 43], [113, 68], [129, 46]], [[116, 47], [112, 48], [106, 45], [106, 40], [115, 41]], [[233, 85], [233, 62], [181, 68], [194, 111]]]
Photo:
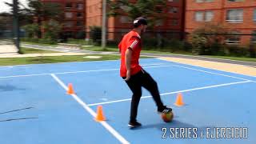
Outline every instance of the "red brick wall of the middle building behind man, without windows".
[[[86, 2], [86, 31], [89, 31], [89, 26], [102, 26], [102, 0], [85, 0]], [[136, 2], [136, 0], [131, 0], [130, 2]], [[178, 13], [177, 14], [169, 14], [166, 22], [163, 22], [162, 26], [156, 26], [155, 29], [157, 30], [170, 30], [170, 31], [182, 31], [182, 14], [183, 14], [183, 0], [179, 2], [168, 2], [167, 6], [177, 6]], [[98, 10], [90, 8], [98, 6]], [[91, 10], [90, 10], [91, 9]], [[93, 10], [92, 10], [93, 9]], [[129, 31], [133, 28], [132, 22], [133, 20], [130, 19], [127, 22], [122, 22], [122, 16], [118, 16], [115, 18], [108, 18], [107, 26], [109, 39], [119, 38], [122, 34], [125, 34], [126, 31]], [[170, 20], [172, 19], [178, 20], [177, 26], [170, 25]]]

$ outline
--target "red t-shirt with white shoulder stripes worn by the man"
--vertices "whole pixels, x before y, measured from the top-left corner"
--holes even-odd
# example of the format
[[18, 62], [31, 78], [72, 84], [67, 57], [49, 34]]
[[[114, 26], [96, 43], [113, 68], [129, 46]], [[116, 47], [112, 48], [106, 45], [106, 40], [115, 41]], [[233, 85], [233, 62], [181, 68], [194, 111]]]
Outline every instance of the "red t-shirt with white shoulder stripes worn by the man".
[[134, 75], [142, 70], [142, 66], [139, 66], [138, 58], [142, 50], [142, 40], [140, 35], [131, 30], [126, 34], [122, 41], [118, 45], [119, 51], [121, 53], [121, 66], [120, 66], [120, 76], [126, 77], [126, 50], [133, 50], [130, 62], [130, 75]]

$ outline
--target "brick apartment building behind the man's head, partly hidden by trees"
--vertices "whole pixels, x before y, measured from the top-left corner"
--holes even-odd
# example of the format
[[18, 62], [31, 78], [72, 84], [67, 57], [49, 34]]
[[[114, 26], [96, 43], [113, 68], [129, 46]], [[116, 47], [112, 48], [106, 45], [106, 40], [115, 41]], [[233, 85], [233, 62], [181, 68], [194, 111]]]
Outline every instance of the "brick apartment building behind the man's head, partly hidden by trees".
[[[136, 2], [136, 0], [130, 0]], [[159, 32], [183, 32], [184, 31], [184, 0], [168, 0], [165, 20], [159, 20], [154, 30]], [[133, 20], [126, 14], [110, 17], [107, 20], [108, 39], [120, 38], [133, 28]], [[102, 26], [102, 0], [86, 0], [86, 31], [90, 31], [90, 26]]]

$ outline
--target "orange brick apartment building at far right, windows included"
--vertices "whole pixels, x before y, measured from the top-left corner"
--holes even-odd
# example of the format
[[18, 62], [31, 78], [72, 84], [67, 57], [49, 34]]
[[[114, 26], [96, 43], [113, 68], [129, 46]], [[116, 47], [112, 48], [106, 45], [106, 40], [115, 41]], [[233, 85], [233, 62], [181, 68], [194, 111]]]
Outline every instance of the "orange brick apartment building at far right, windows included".
[[[226, 44], [247, 45], [256, 42], [255, 0], [187, 0], [185, 31], [203, 26], [206, 22], [222, 23], [234, 36]], [[239, 35], [241, 34], [241, 35]]]

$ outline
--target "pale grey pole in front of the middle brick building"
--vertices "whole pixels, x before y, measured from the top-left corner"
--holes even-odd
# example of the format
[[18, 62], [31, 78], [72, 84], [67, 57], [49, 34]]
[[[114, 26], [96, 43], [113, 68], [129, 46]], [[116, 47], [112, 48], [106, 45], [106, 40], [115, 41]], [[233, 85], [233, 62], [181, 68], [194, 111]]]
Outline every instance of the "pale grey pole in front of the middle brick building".
[[102, 0], [102, 49], [106, 48], [106, 0]]

